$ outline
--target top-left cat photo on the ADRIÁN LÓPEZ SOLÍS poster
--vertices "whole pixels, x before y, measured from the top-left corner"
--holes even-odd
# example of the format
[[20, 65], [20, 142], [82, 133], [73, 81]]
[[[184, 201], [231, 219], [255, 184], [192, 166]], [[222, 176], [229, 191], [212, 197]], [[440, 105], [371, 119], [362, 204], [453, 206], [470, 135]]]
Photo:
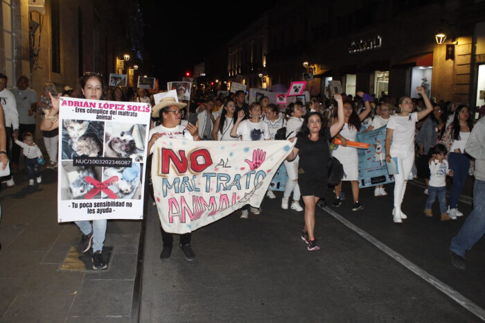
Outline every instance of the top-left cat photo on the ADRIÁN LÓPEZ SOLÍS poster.
[[62, 159], [103, 156], [103, 121], [62, 121]]

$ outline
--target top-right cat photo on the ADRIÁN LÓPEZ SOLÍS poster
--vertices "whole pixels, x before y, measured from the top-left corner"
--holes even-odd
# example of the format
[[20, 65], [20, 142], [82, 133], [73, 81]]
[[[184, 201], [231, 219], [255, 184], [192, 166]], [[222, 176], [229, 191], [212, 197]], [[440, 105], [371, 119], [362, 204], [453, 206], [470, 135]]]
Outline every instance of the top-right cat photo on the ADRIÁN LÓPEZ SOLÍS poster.
[[145, 157], [146, 125], [106, 123], [105, 157], [131, 158], [143, 162]]

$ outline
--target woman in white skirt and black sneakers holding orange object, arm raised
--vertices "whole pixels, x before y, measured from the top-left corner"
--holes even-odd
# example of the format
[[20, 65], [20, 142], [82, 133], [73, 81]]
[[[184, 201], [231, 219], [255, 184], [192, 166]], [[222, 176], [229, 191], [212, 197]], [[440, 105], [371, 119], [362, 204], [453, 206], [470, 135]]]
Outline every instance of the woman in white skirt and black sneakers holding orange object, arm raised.
[[[357, 148], [347, 146], [347, 141], [355, 141], [357, 132], [360, 131], [361, 122], [367, 118], [371, 112], [372, 96], [358, 91], [357, 95], [364, 99], [365, 110], [357, 114], [353, 108], [351, 101], [344, 101], [344, 127], [337, 134], [336, 138], [342, 141], [337, 150], [333, 150], [332, 156], [337, 158], [344, 166], [344, 173], [346, 177], [343, 181], [350, 181], [352, 186], [353, 207], [352, 211], [364, 209], [359, 202], [359, 157], [357, 155]], [[339, 122], [338, 118], [333, 120], [333, 123]], [[334, 207], [340, 207], [342, 200], [340, 200], [340, 191], [342, 191], [342, 182], [335, 186], [335, 201]]]

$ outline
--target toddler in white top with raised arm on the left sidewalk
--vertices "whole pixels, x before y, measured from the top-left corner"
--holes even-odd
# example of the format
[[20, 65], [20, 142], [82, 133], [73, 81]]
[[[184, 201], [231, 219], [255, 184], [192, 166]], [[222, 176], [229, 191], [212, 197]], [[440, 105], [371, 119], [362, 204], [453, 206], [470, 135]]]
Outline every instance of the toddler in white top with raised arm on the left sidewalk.
[[22, 134], [23, 142], [19, 141], [19, 135], [16, 133], [12, 134], [12, 137], [15, 139], [17, 145], [24, 148], [28, 184], [33, 186], [34, 179], [37, 179], [37, 183], [41, 183], [42, 176], [40, 175], [39, 158], [42, 160], [44, 157], [42, 157], [40, 148], [35, 144], [33, 135], [30, 132], [24, 132]]

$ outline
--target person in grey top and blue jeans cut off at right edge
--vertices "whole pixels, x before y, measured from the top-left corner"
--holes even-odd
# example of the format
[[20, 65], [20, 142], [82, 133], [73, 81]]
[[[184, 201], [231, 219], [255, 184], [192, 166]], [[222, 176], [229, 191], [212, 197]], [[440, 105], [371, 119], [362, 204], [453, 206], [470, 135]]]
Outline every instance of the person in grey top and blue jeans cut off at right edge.
[[466, 218], [455, 238], [452, 238], [450, 255], [452, 264], [466, 269], [465, 252], [470, 250], [485, 233], [485, 118], [479, 119], [473, 128], [465, 150], [475, 158], [475, 186], [473, 186], [473, 210]]

